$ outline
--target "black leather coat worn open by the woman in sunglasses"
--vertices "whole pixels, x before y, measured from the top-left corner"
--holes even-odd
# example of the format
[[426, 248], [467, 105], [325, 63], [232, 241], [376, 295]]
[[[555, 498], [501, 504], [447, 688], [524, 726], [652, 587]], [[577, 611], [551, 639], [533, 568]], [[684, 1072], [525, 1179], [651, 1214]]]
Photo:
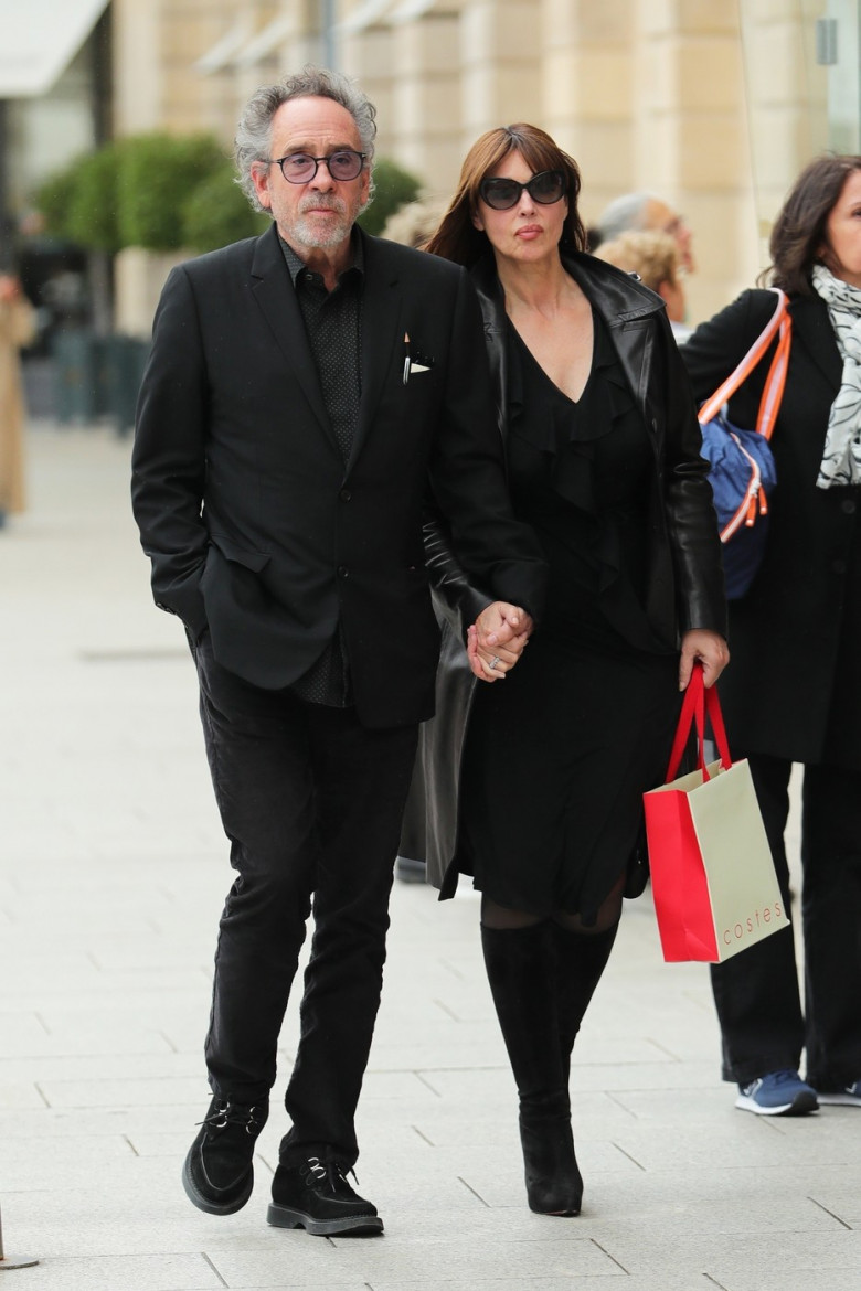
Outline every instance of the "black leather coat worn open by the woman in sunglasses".
[[[707, 465], [700, 457], [693, 395], [663, 305], [638, 280], [593, 256], [563, 252], [562, 258], [609, 328], [652, 442], [656, 488], [644, 534], [649, 622], [670, 647], [678, 646], [680, 634], [693, 627], [725, 635], [720, 542]], [[474, 269], [472, 281], [484, 316], [498, 425], [505, 442], [506, 312], [491, 256]], [[443, 646], [436, 715], [421, 728], [401, 855], [423, 857], [429, 880], [441, 887], [454, 855], [461, 753], [472, 689], [478, 684], [466, 661], [463, 640], [466, 629], [491, 598], [470, 584], [436, 519], [426, 525], [425, 553], [443, 621]], [[451, 887], [453, 889], [453, 884]], [[448, 887], [441, 895], [451, 895]]]

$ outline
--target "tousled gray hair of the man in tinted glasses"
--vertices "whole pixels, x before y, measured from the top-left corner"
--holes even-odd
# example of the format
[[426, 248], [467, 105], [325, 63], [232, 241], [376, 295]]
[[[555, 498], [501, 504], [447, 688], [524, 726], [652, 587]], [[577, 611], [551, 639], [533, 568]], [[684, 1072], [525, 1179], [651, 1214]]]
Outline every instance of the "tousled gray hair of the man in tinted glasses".
[[[254, 210], [265, 208], [257, 199], [252, 172], [257, 163], [270, 160], [272, 117], [283, 103], [289, 103], [293, 98], [330, 98], [341, 107], [346, 107], [359, 130], [361, 151], [365, 154], [365, 169], [370, 169], [373, 163], [377, 108], [349, 76], [329, 71], [327, 67], [309, 65], [301, 72], [285, 76], [275, 85], [261, 85], [249, 98], [239, 119], [234, 139], [234, 158], [239, 170], [236, 182]], [[372, 194], [373, 179], [368, 201]]]

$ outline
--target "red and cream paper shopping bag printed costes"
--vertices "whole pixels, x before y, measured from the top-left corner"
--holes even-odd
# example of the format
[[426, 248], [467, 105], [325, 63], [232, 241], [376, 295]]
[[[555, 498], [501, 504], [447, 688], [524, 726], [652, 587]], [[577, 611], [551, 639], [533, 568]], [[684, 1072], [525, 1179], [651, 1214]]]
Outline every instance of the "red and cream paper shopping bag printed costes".
[[[705, 764], [706, 714], [720, 758]], [[698, 766], [675, 778], [696, 723]], [[789, 926], [747, 760], [733, 763], [715, 687], [693, 670], [666, 784], [643, 795], [667, 963], [720, 963]]]

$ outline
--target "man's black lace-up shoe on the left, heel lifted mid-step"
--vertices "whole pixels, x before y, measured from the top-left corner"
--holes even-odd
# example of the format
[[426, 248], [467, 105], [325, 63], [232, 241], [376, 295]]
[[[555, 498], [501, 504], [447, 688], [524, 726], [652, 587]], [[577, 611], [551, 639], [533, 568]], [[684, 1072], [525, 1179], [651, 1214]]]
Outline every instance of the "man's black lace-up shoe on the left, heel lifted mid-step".
[[267, 1117], [267, 1103], [249, 1108], [212, 1100], [182, 1167], [182, 1186], [199, 1210], [232, 1215], [243, 1208], [254, 1186], [254, 1144]]

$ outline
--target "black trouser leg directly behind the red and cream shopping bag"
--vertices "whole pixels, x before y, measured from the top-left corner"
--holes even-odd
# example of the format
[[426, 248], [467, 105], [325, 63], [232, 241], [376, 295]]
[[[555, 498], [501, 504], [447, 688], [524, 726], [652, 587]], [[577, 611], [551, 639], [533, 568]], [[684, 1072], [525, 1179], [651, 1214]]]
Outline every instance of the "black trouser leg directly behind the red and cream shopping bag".
[[[777, 880], [790, 913], [789, 865], [784, 830], [789, 815], [790, 762], [750, 758]], [[769, 1072], [798, 1070], [804, 1017], [798, 989], [793, 930], [784, 928], [723, 964], [711, 966], [723, 1042], [723, 1077], [749, 1084]]]

